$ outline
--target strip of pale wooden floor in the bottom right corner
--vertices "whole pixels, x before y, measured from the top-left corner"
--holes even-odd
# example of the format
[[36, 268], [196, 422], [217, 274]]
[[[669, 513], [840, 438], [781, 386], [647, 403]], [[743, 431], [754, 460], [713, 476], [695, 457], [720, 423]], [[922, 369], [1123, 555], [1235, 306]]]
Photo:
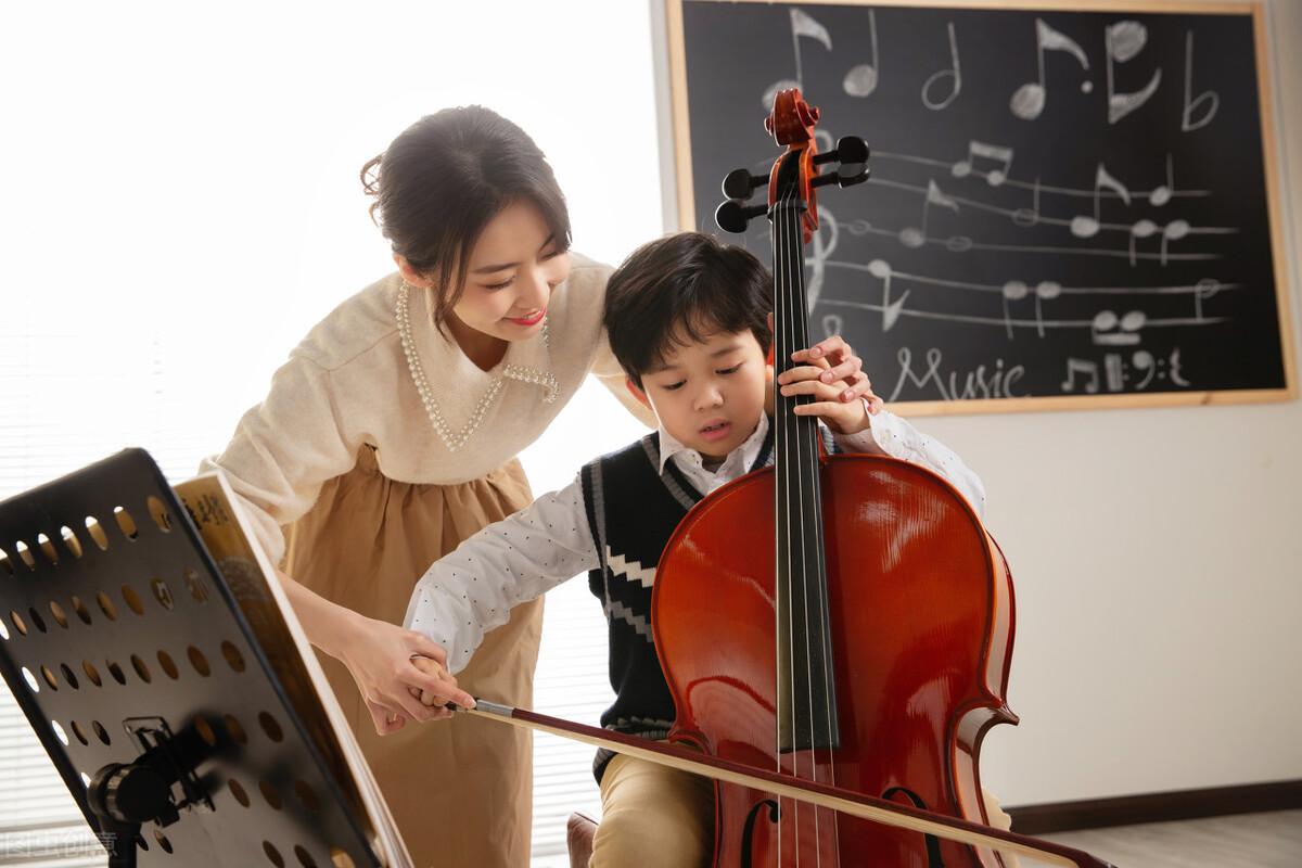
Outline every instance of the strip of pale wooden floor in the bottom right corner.
[[[1117, 868], [1302, 868], [1302, 811], [1043, 835]], [[1029, 860], [1022, 861], [1030, 865]]]

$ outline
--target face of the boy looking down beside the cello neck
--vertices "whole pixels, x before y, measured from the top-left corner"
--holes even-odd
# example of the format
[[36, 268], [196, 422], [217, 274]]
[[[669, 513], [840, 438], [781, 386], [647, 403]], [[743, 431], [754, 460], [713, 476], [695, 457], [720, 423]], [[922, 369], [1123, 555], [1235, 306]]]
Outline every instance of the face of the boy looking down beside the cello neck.
[[[633, 387], [660, 424], [707, 461], [723, 461], [759, 424], [769, 368], [750, 331], [673, 345]], [[630, 381], [631, 387], [631, 381]]]

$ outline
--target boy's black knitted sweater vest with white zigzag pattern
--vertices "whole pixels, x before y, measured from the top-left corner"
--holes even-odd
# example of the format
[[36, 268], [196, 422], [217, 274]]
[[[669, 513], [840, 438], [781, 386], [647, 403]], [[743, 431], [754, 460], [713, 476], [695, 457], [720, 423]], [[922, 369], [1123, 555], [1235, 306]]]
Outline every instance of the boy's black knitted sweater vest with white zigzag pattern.
[[[828, 452], [829, 432], [820, 428]], [[749, 470], [773, 463], [773, 428]], [[660, 474], [660, 433], [651, 433], [620, 452], [603, 455], [579, 471], [587, 522], [602, 566], [589, 573], [589, 588], [602, 601], [609, 625], [611, 687], [615, 704], [602, 726], [643, 738], [663, 739], [674, 708], [651, 635], [651, 588], [669, 536], [700, 498], [682, 471], [669, 461]], [[611, 760], [598, 751], [598, 781]]]

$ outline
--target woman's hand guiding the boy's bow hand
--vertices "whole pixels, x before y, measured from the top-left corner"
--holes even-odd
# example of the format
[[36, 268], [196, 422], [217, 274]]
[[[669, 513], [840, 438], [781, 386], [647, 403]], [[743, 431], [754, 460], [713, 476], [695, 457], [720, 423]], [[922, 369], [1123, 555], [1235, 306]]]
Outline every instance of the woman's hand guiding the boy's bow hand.
[[[413, 660], [413, 655], [419, 655]], [[414, 630], [374, 618], [359, 618], [349, 636], [340, 643], [339, 660], [357, 682], [366, 708], [371, 712], [375, 731], [388, 735], [402, 729], [408, 720], [427, 721], [450, 717], [445, 708], [422, 704], [418, 696], [437, 698], [439, 704], [456, 703], [474, 708], [470, 694], [457, 687], [447, 673], [448, 656], [435, 642]], [[440, 674], [427, 674], [418, 662], [434, 661]], [[413, 695], [415, 691], [415, 695]]]

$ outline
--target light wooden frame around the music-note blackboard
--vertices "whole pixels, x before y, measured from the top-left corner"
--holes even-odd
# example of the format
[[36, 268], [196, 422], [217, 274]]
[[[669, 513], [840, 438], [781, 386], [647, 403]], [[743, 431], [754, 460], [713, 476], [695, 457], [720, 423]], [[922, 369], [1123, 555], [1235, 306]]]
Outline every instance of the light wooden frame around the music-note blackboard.
[[[652, 0], [654, 3], [658, 0]], [[669, 133], [672, 138], [672, 160], [664, 161], [672, 167], [672, 199], [677, 202], [680, 228], [700, 226], [707, 215], [698, 215], [694, 206], [694, 167], [691, 159], [691, 128], [689, 121], [686, 42], [684, 26], [684, 5], [689, 0], [664, 0], [664, 27], [668, 48], [669, 86]], [[698, 3], [702, 0], [690, 0]], [[741, 8], [763, 4], [766, 0], [707, 0]], [[1280, 350], [1282, 354], [1282, 388], [1229, 388], [1185, 392], [1156, 393], [1117, 393], [1117, 394], [1062, 394], [1043, 397], [992, 397], [935, 401], [906, 401], [893, 403], [909, 415], [950, 415], [967, 413], [1010, 413], [1030, 410], [1082, 410], [1105, 407], [1148, 407], [1148, 406], [1190, 406], [1190, 405], [1233, 405], [1272, 401], [1290, 401], [1297, 397], [1295, 342], [1293, 336], [1292, 294], [1293, 282], [1289, 275], [1284, 221], [1280, 198], [1281, 172], [1279, 167], [1279, 139], [1276, 134], [1276, 103], [1272, 90], [1269, 40], [1267, 38], [1267, 10], [1260, 0], [1241, 3], [1199, 3], [1197, 0], [966, 0], [965, 3], [945, 3], [943, 0], [812, 0], [801, 3], [802, 8], [820, 7], [910, 7], [937, 9], [1001, 9], [1001, 10], [1044, 10], [1062, 12], [1108, 12], [1108, 13], [1180, 13], [1180, 14], [1232, 14], [1251, 18], [1256, 94], [1260, 120], [1260, 141], [1263, 151], [1264, 190], [1267, 217], [1269, 224], [1271, 265], [1275, 277], [1276, 320]], [[738, 51], [723, 47], [720, 51]], [[760, 115], [756, 112], [755, 124]], [[775, 147], [773, 155], [777, 150]], [[667, 182], [667, 187], [669, 182]], [[721, 198], [721, 194], [720, 194]], [[712, 225], [712, 221], [710, 221]]]

